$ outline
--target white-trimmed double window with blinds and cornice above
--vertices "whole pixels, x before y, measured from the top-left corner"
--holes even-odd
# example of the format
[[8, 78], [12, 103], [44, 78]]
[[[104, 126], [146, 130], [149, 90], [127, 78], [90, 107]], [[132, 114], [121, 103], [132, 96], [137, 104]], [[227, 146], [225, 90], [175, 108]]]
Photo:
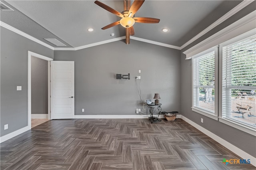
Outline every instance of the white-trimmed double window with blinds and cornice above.
[[256, 136], [256, 28], [250, 21], [248, 32], [241, 34], [241, 22], [183, 53], [192, 58], [192, 111]]

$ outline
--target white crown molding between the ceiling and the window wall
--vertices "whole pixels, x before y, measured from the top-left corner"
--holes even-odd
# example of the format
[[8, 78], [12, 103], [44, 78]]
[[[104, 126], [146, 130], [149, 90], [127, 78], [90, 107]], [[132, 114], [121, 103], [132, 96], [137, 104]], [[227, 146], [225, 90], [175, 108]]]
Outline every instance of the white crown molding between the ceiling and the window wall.
[[238, 11], [242, 10], [244, 7], [246, 7], [247, 5], [249, 5], [250, 3], [254, 2], [254, 0], [244, 0], [242, 1], [240, 4], [238, 4], [235, 8], [233, 8], [232, 10], [230, 10], [229, 12], [227, 12], [224, 16], [222, 16], [221, 18], [219, 18], [217, 21], [215, 21], [213, 24], [211, 24], [210, 26], [208, 26], [206, 29], [204, 29], [202, 32], [200, 32], [199, 34], [197, 34], [196, 36], [194, 36], [191, 40], [189, 40], [188, 42], [184, 43], [180, 49], [183, 49], [184, 47], [186, 47], [187, 45], [189, 45], [190, 43], [194, 42], [195, 40], [197, 40], [198, 38], [202, 37], [204, 34], [206, 34], [207, 32], [209, 32], [210, 30], [212, 30], [213, 28], [215, 28], [216, 26], [220, 25], [222, 22], [224, 22], [225, 20], [227, 20], [228, 18], [230, 18], [231, 16], [233, 16], [234, 14], [236, 14]]

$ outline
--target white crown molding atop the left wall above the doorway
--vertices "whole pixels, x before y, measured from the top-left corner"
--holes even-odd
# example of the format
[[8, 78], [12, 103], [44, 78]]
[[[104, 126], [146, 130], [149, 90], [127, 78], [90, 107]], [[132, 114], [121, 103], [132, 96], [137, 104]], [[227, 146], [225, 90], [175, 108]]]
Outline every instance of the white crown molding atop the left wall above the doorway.
[[38, 39], [36, 39], [36, 38], [34, 38], [34, 37], [24, 33], [24, 32], [22, 32], [22, 31], [20, 31], [20, 30], [14, 28], [14, 27], [12, 27], [12, 26], [2, 22], [2, 21], [0, 21], [0, 26], [4, 27], [4, 28], [6, 28], [6, 29], [8, 29], [8, 30], [10, 30], [12, 32], [15, 32], [16, 34], [19, 34], [19, 35], [21, 35], [21, 36], [23, 36], [25, 38], [28, 38], [29, 40], [32, 40], [34, 42], [37, 42], [37, 43], [39, 43], [41, 45], [44, 45], [45, 47], [48, 47], [48, 48], [54, 50], [54, 47], [52, 47], [51, 45], [48, 45], [47, 43], [44, 43], [44, 42], [42, 42], [42, 41], [40, 41], [40, 40], [38, 40]]

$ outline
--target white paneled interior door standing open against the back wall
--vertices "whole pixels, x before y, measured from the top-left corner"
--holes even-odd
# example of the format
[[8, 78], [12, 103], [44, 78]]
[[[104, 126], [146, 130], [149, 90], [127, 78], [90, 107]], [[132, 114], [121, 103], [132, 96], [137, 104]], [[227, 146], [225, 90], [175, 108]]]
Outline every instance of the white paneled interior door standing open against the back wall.
[[51, 119], [74, 119], [74, 61], [51, 61]]

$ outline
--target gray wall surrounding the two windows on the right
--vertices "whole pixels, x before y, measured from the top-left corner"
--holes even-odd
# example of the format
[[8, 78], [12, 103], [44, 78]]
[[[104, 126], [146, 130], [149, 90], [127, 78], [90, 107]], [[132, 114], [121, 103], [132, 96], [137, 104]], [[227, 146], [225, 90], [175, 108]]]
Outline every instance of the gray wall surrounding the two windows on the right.
[[[250, 135], [246, 132], [243, 132], [241, 130], [238, 130], [236, 128], [230, 127], [224, 123], [220, 123], [219, 121], [215, 121], [213, 119], [210, 119], [208, 117], [205, 117], [204, 115], [201, 115], [199, 113], [196, 113], [192, 111], [192, 67], [191, 67], [191, 59], [185, 60], [186, 56], [182, 53], [189, 49], [190, 47], [196, 45], [197, 43], [201, 42], [202, 40], [208, 38], [212, 34], [220, 31], [221, 29], [225, 28], [226, 26], [232, 24], [236, 20], [242, 18], [246, 14], [249, 14], [253, 10], [255, 10], [255, 2], [232, 16], [230, 19], [226, 20], [216, 28], [214, 28], [212, 31], [210, 31], [208, 34], [203, 36], [202, 38], [196, 40], [196, 42], [193, 42], [192, 44], [188, 45], [181, 51], [181, 67], [180, 67], [180, 73], [181, 73], [181, 114], [185, 116], [186, 118], [190, 119], [191, 121], [195, 122], [196, 124], [206, 128], [207, 130], [211, 131], [212, 133], [216, 134], [220, 138], [223, 138], [224, 140], [230, 142], [234, 146], [240, 148], [241, 150], [244, 150], [248, 154], [256, 157], [256, 138], [253, 135]], [[201, 123], [201, 118], [204, 119], [204, 123]], [[249, 159], [249, 158], [248, 158]]]

